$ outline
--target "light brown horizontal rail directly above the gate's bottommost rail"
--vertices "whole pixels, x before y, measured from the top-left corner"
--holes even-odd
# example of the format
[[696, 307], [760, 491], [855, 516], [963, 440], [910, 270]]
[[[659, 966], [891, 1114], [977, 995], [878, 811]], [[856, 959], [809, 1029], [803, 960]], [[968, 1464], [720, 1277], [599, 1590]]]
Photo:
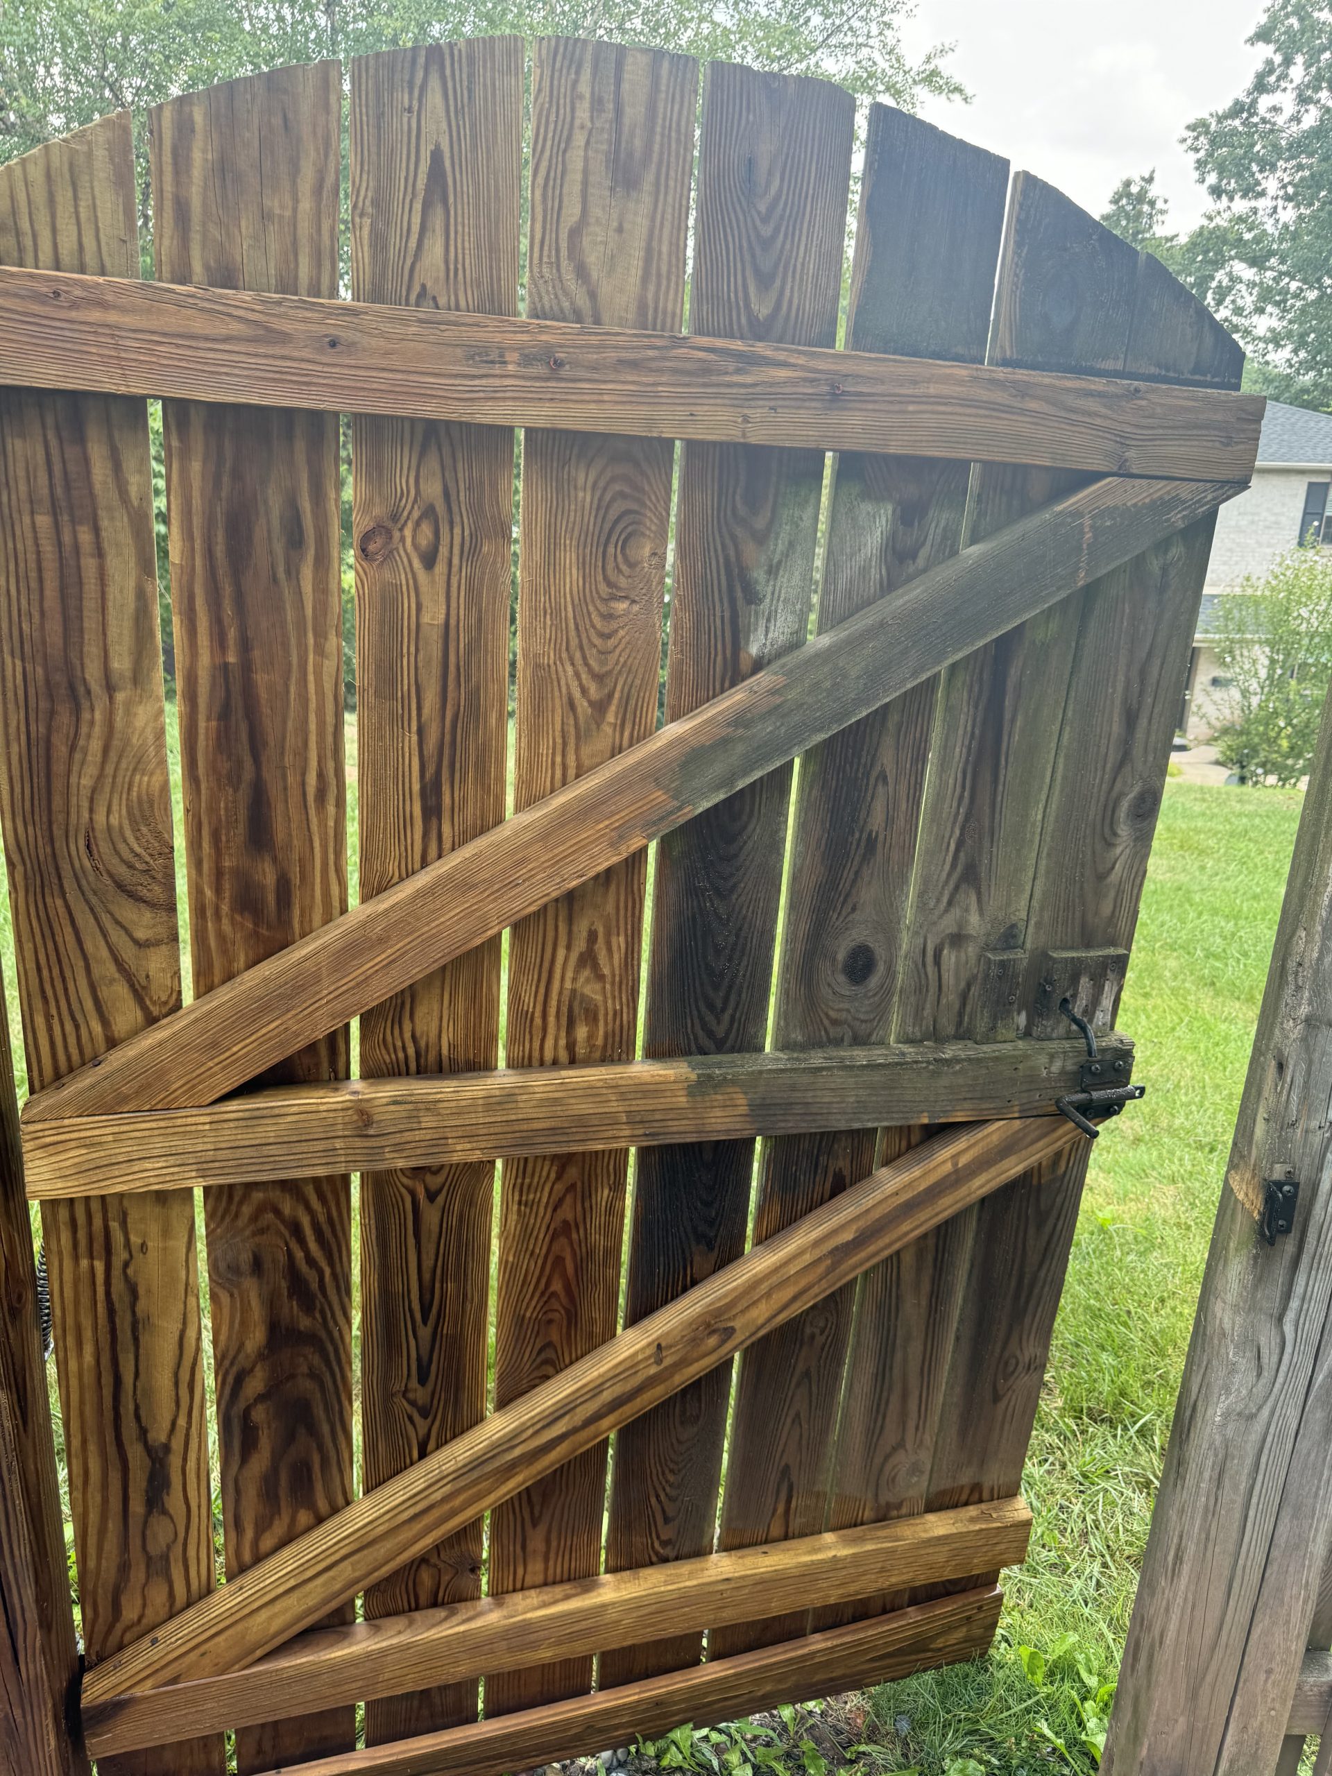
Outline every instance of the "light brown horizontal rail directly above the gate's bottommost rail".
[[[593, 1641], [638, 1645], [758, 1609], [831, 1604], [867, 1584], [906, 1586], [1012, 1566], [1032, 1513], [1021, 1499], [936, 1511], [899, 1524], [805, 1536], [773, 1547], [572, 1579], [410, 1614], [314, 1629], [258, 1664], [83, 1709], [89, 1751], [133, 1751], [181, 1732], [281, 1717], [348, 1698], [478, 1677], [497, 1659], [549, 1662]], [[698, 1659], [693, 1661], [698, 1664]]]

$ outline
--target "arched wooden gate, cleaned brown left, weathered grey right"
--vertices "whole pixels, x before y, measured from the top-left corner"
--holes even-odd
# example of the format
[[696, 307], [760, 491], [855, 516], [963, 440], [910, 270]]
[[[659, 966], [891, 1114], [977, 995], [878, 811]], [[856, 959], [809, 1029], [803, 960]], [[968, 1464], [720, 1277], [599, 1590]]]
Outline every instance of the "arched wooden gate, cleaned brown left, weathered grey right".
[[[336, 64], [151, 114], [155, 281], [128, 115], [0, 169], [0, 817], [103, 1772], [220, 1772], [224, 1730], [524, 1767], [968, 1657], [1025, 1549], [1055, 1106], [1128, 1085], [1261, 401], [1158, 261], [909, 115], [870, 110], [838, 346], [845, 92], [716, 64], [700, 126], [689, 59], [543, 41], [524, 124], [526, 78], [352, 64], [350, 300]], [[5, 1211], [5, 1600], [60, 1698]]]

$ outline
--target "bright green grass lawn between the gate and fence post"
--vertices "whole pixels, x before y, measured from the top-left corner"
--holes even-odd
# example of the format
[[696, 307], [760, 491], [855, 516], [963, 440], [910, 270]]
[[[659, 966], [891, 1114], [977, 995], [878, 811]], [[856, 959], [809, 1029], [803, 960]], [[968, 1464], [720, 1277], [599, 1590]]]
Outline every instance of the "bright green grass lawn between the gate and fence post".
[[[348, 755], [353, 765], [353, 725]], [[1025, 1478], [1032, 1552], [1007, 1579], [986, 1661], [886, 1685], [863, 1698], [863, 1723], [852, 1710], [863, 1742], [854, 1762], [868, 1772], [1096, 1765], [1298, 806], [1295, 792], [1167, 783], [1121, 1014], [1147, 1098], [1096, 1147]], [[179, 840], [178, 824], [178, 858]], [[12, 995], [2, 895], [0, 916]], [[721, 1762], [748, 1776], [778, 1764], [824, 1776], [803, 1721], [776, 1726], [780, 1748], [744, 1730], [709, 1735], [710, 1746], [694, 1735], [673, 1753], [662, 1742], [662, 1767], [707, 1772]]]

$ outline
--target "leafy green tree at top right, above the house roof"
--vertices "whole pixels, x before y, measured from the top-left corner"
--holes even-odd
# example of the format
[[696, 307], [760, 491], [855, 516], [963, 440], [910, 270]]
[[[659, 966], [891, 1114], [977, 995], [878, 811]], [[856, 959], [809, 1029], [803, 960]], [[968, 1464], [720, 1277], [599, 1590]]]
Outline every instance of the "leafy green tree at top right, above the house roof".
[[1247, 387], [1332, 408], [1332, 0], [1268, 0], [1249, 41], [1266, 53], [1245, 91], [1185, 130], [1211, 199], [1199, 227], [1165, 234], [1153, 174], [1124, 179], [1101, 220], [1231, 327]]

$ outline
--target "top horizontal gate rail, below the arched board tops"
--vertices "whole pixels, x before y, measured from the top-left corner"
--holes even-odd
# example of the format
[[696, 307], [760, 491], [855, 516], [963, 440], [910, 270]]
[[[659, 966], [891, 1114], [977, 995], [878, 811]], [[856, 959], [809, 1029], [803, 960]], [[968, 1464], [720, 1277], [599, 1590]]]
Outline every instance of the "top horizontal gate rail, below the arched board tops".
[[0, 270], [0, 382], [638, 437], [1247, 480], [1259, 396]]

